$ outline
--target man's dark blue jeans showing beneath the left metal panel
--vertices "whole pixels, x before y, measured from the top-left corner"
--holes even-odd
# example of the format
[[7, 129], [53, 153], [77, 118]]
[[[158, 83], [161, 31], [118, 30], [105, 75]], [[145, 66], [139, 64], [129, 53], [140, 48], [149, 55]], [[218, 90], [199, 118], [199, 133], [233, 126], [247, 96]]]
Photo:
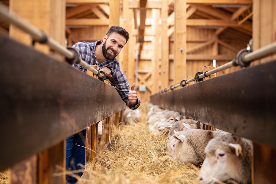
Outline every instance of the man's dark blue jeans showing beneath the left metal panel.
[[[85, 133], [86, 129], [66, 139], [66, 169], [69, 168], [69, 171], [84, 169], [79, 163], [85, 165]], [[75, 146], [75, 144], [80, 146]], [[82, 176], [83, 172], [75, 174]], [[67, 175], [67, 183], [74, 184], [77, 181], [77, 179]]]

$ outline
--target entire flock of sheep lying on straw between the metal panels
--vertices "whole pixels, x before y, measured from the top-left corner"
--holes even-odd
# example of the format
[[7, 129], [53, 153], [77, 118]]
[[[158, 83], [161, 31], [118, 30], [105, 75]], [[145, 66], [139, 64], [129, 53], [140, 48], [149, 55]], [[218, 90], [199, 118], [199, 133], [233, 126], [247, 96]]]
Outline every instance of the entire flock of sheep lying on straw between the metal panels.
[[[141, 116], [139, 109], [124, 113], [126, 123], [135, 123]], [[200, 183], [251, 183], [251, 140], [221, 130], [203, 130], [200, 122], [157, 105], [151, 105], [147, 118], [151, 133], [167, 131], [168, 152], [175, 161], [195, 166], [202, 163]]]

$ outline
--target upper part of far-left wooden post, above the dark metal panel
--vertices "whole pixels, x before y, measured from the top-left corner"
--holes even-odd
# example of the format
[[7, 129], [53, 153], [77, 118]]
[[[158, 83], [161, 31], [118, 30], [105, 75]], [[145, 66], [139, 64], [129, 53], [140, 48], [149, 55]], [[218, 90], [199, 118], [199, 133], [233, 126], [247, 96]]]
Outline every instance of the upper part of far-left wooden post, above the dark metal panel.
[[[27, 6], [26, 6], [27, 5]], [[17, 13], [20, 17], [43, 30], [48, 37], [59, 42], [65, 47], [65, 0], [10, 0], [10, 10]], [[24, 7], [24, 8], [22, 8]], [[32, 45], [33, 38], [15, 27], [10, 25], [10, 37], [15, 40]], [[63, 59], [59, 53], [50, 52], [46, 44], [36, 43], [35, 48], [45, 54], [55, 55], [59, 59]]]

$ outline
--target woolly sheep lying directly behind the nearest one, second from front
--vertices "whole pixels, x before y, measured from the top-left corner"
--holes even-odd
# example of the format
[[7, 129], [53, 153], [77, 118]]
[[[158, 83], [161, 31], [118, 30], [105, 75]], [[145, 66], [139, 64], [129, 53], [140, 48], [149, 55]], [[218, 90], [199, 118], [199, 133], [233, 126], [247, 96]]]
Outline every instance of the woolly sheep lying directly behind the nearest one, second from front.
[[168, 152], [172, 158], [182, 164], [199, 166], [205, 159], [204, 149], [214, 137], [227, 132], [202, 129], [188, 129], [169, 137]]

